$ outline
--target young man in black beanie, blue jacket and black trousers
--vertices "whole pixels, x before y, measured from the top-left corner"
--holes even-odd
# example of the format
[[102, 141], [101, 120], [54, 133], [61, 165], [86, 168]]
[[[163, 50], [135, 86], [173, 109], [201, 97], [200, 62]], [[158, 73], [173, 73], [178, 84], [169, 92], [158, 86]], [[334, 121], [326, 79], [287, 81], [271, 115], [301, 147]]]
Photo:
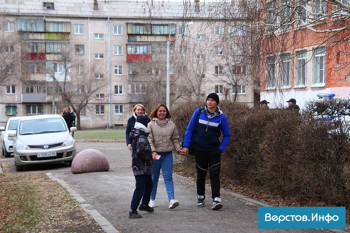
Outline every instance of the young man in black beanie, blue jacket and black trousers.
[[[212, 210], [221, 209], [223, 206], [220, 199], [221, 153], [229, 144], [231, 137], [228, 120], [217, 106], [218, 104], [219, 96], [216, 93], [210, 93], [207, 96], [207, 104], [201, 112], [200, 108], [195, 110], [187, 126], [182, 149], [183, 154], [188, 154], [190, 141], [193, 138], [197, 169], [198, 207], [204, 206], [205, 176], [209, 167], [211, 198], [213, 198]], [[200, 114], [199, 119], [198, 114]], [[222, 142], [219, 140], [221, 132], [223, 134]], [[193, 133], [194, 137], [192, 137]]]

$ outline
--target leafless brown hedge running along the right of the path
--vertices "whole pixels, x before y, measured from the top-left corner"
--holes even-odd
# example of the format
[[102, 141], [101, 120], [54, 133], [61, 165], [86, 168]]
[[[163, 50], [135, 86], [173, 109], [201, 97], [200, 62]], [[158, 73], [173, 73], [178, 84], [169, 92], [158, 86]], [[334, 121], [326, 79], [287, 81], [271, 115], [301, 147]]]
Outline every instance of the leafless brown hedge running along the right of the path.
[[[180, 137], [194, 110], [204, 104], [203, 100], [188, 102], [172, 111]], [[348, 131], [340, 121], [319, 121], [310, 112], [301, 115], [228, 101], [221, 101], [219, 107], [232, 135], [222, 154], [222, 179], [295, 197], [300, 204], [322, 201], [349, 206], [350, 146]], [[193, 176], [193, 156], [182, 159], [181, 170]]]

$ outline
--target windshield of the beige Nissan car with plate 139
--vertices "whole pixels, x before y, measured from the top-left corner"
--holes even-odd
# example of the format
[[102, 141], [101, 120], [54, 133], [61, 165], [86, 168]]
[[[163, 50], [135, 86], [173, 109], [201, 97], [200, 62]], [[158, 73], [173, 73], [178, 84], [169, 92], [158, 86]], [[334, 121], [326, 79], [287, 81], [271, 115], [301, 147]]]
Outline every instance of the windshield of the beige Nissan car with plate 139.
[[66, 130], [66, 126], [61, 118], [34, 119], [22, 121], [19, 134], [55, 133], [64, 132]]

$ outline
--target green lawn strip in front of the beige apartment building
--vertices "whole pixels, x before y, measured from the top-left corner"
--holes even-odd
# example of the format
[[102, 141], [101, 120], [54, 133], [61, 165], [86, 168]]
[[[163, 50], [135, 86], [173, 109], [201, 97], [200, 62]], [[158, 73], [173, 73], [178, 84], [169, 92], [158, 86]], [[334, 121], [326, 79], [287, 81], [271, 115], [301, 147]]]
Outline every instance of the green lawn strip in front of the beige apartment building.
[[125, 130], [79, 130], [74, 133], [74, 139], [125, 140]]

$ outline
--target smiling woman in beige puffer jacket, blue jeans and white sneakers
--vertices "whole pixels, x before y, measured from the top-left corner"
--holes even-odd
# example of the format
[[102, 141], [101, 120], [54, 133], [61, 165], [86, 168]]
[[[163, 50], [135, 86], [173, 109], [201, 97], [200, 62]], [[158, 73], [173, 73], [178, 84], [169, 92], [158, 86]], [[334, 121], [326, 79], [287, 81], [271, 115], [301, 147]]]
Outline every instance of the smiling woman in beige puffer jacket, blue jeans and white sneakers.
[[[153, 163], [153, 190], [151, 193], [151, 201], [148, 205], [155, 207], [155, 196], [157, 193], [160, 169], [162, 169], [165, 189], [168, 193], [169, 209], [179, 206], [179, 201], [174, 197], [173, 182], [173, 151], [182, 154], [180, 145], [180, 137], [174, 122], [170, 120], [170, 114], [165, 104], [158, 104], [152, 111], [147, 129], [149, 132], [148, 141], [151, 145]], [[160, 155], [160, 156], [159, 156]]]

